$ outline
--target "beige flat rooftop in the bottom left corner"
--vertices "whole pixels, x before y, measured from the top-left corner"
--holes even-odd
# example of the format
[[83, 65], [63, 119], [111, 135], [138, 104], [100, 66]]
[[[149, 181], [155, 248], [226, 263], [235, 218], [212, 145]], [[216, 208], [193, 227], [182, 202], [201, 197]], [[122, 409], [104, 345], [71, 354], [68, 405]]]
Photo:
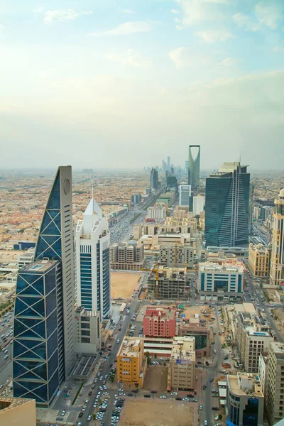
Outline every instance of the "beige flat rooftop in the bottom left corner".
[[4, 398], [0, 395], [1, 426], [35, 426], [35, 400], [25, 398]]

